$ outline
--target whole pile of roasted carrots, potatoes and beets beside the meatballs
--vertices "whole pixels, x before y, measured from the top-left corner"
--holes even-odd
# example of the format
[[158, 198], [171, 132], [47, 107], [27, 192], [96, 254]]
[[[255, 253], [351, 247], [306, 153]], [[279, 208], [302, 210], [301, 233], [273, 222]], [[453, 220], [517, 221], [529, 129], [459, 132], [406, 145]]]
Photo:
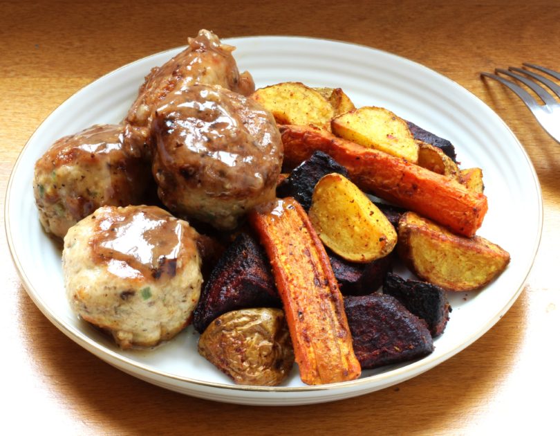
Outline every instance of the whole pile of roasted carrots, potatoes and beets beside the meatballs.
[[[510, 261], [475, 235], [482, 170], [460, 169], [449, 141], [387, 109], [356, 109], [342, 89], [288, 82], [252, 97], [279, 125], [285, 172], [278, 199], [250, 212], [205, 281], [200, 353], [255, 385], [281, 383], [294, 358], [315, 385], [431, 353], [446, 292], [480, 289]], [[398, 258], [420, 280], [393, 274]]]

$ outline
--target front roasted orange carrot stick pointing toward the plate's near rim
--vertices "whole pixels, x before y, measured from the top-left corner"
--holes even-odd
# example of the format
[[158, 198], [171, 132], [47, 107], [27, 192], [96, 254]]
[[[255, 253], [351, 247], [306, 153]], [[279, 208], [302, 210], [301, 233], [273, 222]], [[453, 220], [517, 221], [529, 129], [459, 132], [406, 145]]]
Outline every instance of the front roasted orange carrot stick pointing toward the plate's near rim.
[[301, 380], [309, 385], [360, 376], [342, 294], [306, 212], [291, 197], [253, 211], [283, 302]]

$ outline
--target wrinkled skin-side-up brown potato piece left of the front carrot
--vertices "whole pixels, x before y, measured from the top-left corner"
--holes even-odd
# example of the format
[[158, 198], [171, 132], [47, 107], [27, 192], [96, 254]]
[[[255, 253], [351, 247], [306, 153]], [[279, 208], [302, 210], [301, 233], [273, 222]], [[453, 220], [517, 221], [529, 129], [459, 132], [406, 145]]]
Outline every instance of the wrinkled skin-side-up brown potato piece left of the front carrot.
[[200, 335], [198, 352], [242, 385], [278, 385], [294, 363], [281, 309], [241, 309], [218, 316]]

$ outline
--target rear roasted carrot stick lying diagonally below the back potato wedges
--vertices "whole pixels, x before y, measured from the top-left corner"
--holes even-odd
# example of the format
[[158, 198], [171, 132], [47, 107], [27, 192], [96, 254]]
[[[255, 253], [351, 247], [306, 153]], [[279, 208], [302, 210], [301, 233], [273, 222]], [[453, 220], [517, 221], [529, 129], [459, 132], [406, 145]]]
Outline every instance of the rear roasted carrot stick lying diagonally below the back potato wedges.
[[431, 218], [459, 235], [472, 237], [482, 225], [488, 210], [485, 195], [456, 180], [314, 127], [284, 125], [280, 131], [288, 167], [321, 150], [346, 167], [351, 180], [366, 192]]

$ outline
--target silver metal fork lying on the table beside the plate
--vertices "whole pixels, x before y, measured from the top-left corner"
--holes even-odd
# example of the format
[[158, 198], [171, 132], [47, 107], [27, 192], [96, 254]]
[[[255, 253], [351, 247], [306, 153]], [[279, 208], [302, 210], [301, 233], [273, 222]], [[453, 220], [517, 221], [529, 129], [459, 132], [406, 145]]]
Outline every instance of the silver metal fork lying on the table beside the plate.
[[[544, 68], [543, 66], [538, 66], [534, 64], [523, 63], [523, 66], [527, 66], [529, 68], [541, 71], [543, 73], [552, 76], [557, 80], [560, 80], [560, 73], [558, 73], [557, 71], [553, 71], [551, 69]], [[523, 75], [512, 73], [512, 71], [515, 71], [516, 73], [521, 73]], [[521, 68], [516, 68], [514, 66], [510, 66], [509, 69], [507, 70], [497, 68], [494, 72], [496, 74], [480, 73], [480, 75], [498, 80], [498, 82], [505, 84], [506, 87], [514, 91], [514, 93], [516, 93], [516, 95], [519, 98], [521, 98], [521, 100], [523, 100], [523, 102], [525, 103], [525, 105], [527, 105], [530, 111], [532, 111], [536, 120], [539, 121], [543, 129], [545, 129], [545, 131], [547, 131], [548, 134], [552, 136], [552, 138], [554, 138], [560, 143], [560, 104], [557, 102], [557, 100], [554, 99], [554, 96], [552, 96], [550, 93], [548, 93], [548, 91], [546, 91], [545, 88], [541, 87], [541, 85], [539, 84], [536, 84], [533, 80], [530, 80], [529, 78], [538, 80], [546, 87], [548, 87], [550, 91], [554, 92], [559, 98], [560, 98], [560, 87], [554, 82], [552, 82], [552, 80], [545, 78], [543, 75], [536, 74], [533, 71], [529, 71], [528, 69], [521, 69]], [[519, 80], [519, 82], [527, 85], [527, 87], [532, 89], [532, 91], [534, 91], [534, 93], [536, 93], [536, 95], [539, 96], [541, 100], [543, 100], [544, 105], [539, 104], [539, 102], [537, 102], [531, 96], [530, 93], [525, 91], [525, 89], [520, 87], [519, 84], [516, 84], [511, 80], [506, 80], [503, 77], [497, 75], [497, 73], [508, 75], [511, 78]], [[529, 78], [525, 76], [528, 76]]]

